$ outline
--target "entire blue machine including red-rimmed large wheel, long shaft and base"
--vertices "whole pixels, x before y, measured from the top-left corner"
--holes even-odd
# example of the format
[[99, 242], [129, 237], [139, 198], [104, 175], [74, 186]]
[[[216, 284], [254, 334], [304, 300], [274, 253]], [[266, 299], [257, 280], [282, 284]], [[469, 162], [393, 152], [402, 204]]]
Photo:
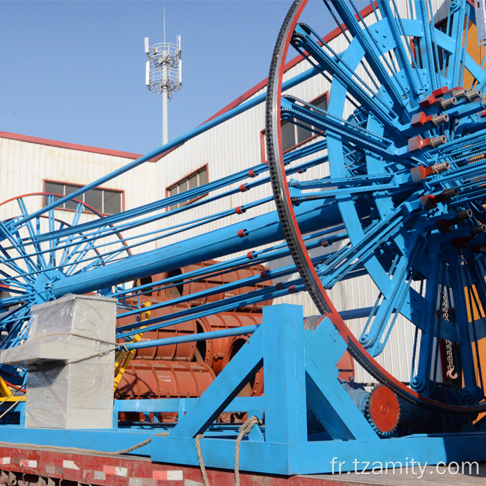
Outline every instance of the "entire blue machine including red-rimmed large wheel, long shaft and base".
[[[201, 451], [206, 465], [233, 469], [239, 429], [236, 424], [219, 424], [216, 419], [223, 412], [244, 412], [262, 421], [241, 444], [240, 468], [246, 471], [312, 474], [353, 471], [356, 461], [379, 462], [386, 467], [411, 461], [434, 464], [486, 460], [485, 421], [474, 428], [471, 420], [474, 414], [486, 410], [485, 386], [480, 367], [476, 369], [475, 365], [475, 359], [480, 363], [478, 340], [486, 336], [486, 58], [478, 65], [469, 56], [467, 31], [462, 45], [464, 21], [469, 26], [469, 19], [474, 20], [469, 3], [451, 2], [446, 33], [431, 24], [433, 17], [429, 18], [425, 1], [410, 2], [415, 12], [415, 18], [410, 19], [401, 19], [396, 2], [392, 3], [395, 12], [388, 1], [380, 2], [378, 9], [371, 3], [377, 21], [373, 34], [353, 1], [333, 2], [348, 28], [343, 36], [349, 47], [337, 54], [310, 26], [297, 24], [305, 0], [296, 0], [279, 36], [272, 62], [272, 69], [276, 69], [273, 77], [269, 76], [267, 94], [69, 196], [58, 201], [53, 195], [46, 196], [48, 204], [42, 210], [29, 212], [24, 198], [18, 199], [21, 215], [0, 222], [0, 284], [10, 285], [12, 294], [0, 302], [8, 308], [0, 315], [0, 330], [5, 332], [0, 349], [26, 339], [30, 305], [57, 299], [67, 292], [97, 291], [118, 299], [123, 310], [119, 317], [133, 317], [131, 323], [117, 328], [117, 339], [124, 342], [126, 351], [234, 335], [251, 337], [199, 399], [115, 401], [111, 430], [24, 428], [24, 403], [5, 402], [0, 403], [0, 409], [7, 412], [14, 406], [13, 411], [20, 414], [20, 425], [2, 424], [3, 438], [12, 445], [15, 441], [115, 451], [164, 430], [167, 437], [153, 436], [150, 444], [134, 453], [148, 455], [156, 462], [196, 465], [196, 437], [204, 435]], [[340, 25], [337, 17], [335, 20]], [[414, 39], [415, 52], [409, 38]], [[312, 67], [283, 83], [283, 62], [291, 44]], [[358, 76], [358, 69], [369, 76], [369, 85]], [[466, 71], [473, 80], [469, 90], [462, 87]], [[328, 81], [332, 78], [327, 110], [296, 97], [282, 96], [285, 90], [318, 74]], [[83, 203], [78, 203], [72, 226], [56, 219], [54, 209], [61, 204], [256, 106], [265, 97], [268, 165], [258, 164], [151, 205], [84, 224], [80, 224]], [[343, 119], [348, 101], [356, 109]], [[325, 140], [317, 138], [283, 154], [282, 119], [308, 131], [312, 128]], [[329, 176], [308, 181], [290, 179], [306, 171], [312, 174], [312, 169], [324, 164], [330, 167]], [[226, 197], [233, 203], [237, 195], [263, 184], [272, 185], [275, 197], [236, 208], [228, 206], [206, 217], [198, 213], [194, 219], [181, 219], [158, 231], [149, 229], [142, 236], [145, 242], [162, 241], [224, 218], [231, 219], [232, 224], [196, 236], [190, 233], [176, 243], [127, 257], [128, 250], [137, 247], [137, 237], [121, 237], [122, 231]], [[276, 201], [276, 212], [238, 219], [247, 210], [272, 200]], [[179, 203], [185, 205], [177, 207]], [[48, 219], [49, 229], [45, 232], [41, 229], [42, 217]], [[116, 248], [110, 249], [112, 242], [103, 238], [114, 235]], [[284, 238], [287, 243], [282, 244]], [[322, 250], [338, 242], [344, 245]], [[310, 250], [317, 256], [311, 258]], [[143, 322], [140, 319], [147, 312], [140, 299], [152, 287], [167, 290], [182, 281], [197, 281], [208, 272], [220, 276], [289, 255], [294, 258], [292, 265], [190, 296], [181, 293], [170, 301], [153, 303], [149, 312], [154, 315]], [[128, 280], [162, 271], [170, 273], [220, 257], [228, 260], [210, 269], [188, 271], [183, 280], [180, 275], [167, 274], [156, 282], [137, 282], [131, 289], [124, 286]], [[295, 278], [296, 273], [299, 278]], [[366, 274], [377, 287], [374, 305], [337, 312], [325, 289]], [[292, 280], [253, 292], [245, 290], [219, 301], [208, 299], [283, 277]], [[314, 330], [304, 328], [300, 306], [280, 304], [264, 308], [260, 326], [149, 342], [135, 340], [139, 333], [304, 290], [311, 294], [322, 315]], [[138, 303], [131, 303], [130, 299], [136, 298]], [[190, 299], [208, 301], [156, 315], [160, 309], [187, 304]], [[399, 315], [416, 326], [410, 387], [387, 376], [374, 359], [385, 349]], [[351, 335], [343, 321], [358, 317], [368, 317], [360, 337]], [[437, 342], [441, 339], [460, 350], [463, 380], [459, 385], [448, 383], [448, 387], [442, 387], [443, 383], [437, 383]], [[401, 431], [400, 437], [398, 431], [383, 437], [380, 433], [384, 431], [369, 420], [361, 405], [357, 406], [349, 391], [355, 388], [349, 384], [346, 388], [338, 379], [337, 362], [346, 350], [401, 400], [422, 407], [420, 410], [433, 410], [430, 413], [439, 419], [463, 414], [466, 420], [451, 420], [443, 433], [416, 433], [412, 427], [411, 431]], [[265, 396], [237, 396], [261, 367]], [[12, 389], [25, 383], [22, 371], [2, 367], [0, 376], [2, 373], [12, 376]], [[369, 395], [364, 387], [362, 392]], [[404, 410], [405, 402], [401, 403]], [[156, 418], [160, 413], [177, 412], [178, 422], [172, 426], [157, 421], [127, 426], [119, 424], [119, 412], [153, 412]], [[426, 424], [426, 414], [417, 410], [410, 413], [416, 413], [417, 421]], [[314, 416], [323, 430], [310, 430], [309, 417]], [[403, 424], [408, 426], [405, 421]]]

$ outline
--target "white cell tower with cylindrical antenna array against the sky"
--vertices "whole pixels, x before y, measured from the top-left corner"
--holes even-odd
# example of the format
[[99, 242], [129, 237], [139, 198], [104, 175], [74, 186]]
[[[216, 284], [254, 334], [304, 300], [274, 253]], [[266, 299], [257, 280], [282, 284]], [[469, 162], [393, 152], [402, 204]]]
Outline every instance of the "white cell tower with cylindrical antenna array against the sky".
[[169, 112], [167, 102], [172, 93], [182, 87], [181, 35], [176, 37], [176, 44], [165, 42], [165, 7], [164, 7], [164, 42], [149, 47], [149, 37], [145, 37], [145, 53], [149, 60], [145, 65], [145, 85], [154, 93], [162, 94], [162, 144], [169, 142]]

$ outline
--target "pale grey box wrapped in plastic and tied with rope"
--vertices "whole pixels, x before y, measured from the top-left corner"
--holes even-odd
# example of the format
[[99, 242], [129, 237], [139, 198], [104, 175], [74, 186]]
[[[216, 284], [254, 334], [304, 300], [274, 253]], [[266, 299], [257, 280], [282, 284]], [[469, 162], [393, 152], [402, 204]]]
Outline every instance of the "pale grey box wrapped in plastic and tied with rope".
[[28, 371], [26, 427], [112, 428], [115, 299], [67, 294], [34, 305], [30, 324], [0, 353]]

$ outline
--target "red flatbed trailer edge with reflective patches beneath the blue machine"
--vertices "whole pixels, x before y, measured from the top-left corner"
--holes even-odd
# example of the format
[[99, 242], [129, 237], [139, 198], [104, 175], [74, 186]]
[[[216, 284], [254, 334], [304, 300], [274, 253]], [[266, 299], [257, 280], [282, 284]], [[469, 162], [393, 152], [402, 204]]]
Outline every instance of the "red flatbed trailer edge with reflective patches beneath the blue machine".
[[[233, 471], [207, 469], [211, 486], [235, 484]], [[424, 474], [417, 468], [392, 469], [382, 474], [317, 474], [312, 476], [273, 476], [240, 473], [242, 486], [356, 486], [356, 485], [484, 485], [486, 464], [478, 469], [455, 472], [454, 467], [428, 466]], [[407, 474], [408, 473], [408, 474]], [[463, 474], [464, 473], [464, 474]], [[477, 474], [476, 474], [477, 473]], [[421, 476], [421, 477], [419, 477]], [[55, 449], [0, 447], [0, 484], [9, 486], [203, 486], [198, 467], [152, 462], [140, 455], [107, 456], [87, 453], [61, 453]]]

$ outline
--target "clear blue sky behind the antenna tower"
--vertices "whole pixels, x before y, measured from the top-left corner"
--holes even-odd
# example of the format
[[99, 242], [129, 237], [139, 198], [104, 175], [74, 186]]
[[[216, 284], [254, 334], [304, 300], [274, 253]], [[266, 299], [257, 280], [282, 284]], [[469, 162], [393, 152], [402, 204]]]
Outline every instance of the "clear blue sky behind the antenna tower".
[[[172, 140], [267, 77], [291, 3], [0, 1], [0, 131], [151, 151], [162, 144], [162, 96], [144, 84], [144, 37], [163, 42], [164, 6], [167, 42], [182, 36]], [[333, 30], [323, 3], [310, 3], [321, 33]]]

